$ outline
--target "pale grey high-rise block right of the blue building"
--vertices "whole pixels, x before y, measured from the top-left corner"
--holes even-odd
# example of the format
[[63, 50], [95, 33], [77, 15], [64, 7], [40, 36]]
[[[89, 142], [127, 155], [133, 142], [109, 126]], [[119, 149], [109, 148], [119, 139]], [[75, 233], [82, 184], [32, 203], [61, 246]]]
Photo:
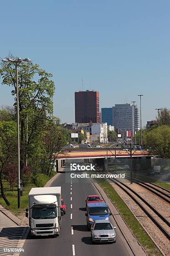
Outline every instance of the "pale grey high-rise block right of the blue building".
[[113, 125], [115, 129], [134, 132], [134, 106], [132, 104], [115, 104], [113, 107]]

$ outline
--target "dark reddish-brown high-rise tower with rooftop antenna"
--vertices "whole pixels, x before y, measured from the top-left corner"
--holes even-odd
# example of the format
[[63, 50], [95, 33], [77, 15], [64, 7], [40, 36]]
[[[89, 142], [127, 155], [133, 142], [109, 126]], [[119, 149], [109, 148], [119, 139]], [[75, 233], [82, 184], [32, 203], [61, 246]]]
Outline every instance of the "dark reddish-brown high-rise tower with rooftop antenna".
[[75, 123], [100, 123], [99, 92], [75, 92]]

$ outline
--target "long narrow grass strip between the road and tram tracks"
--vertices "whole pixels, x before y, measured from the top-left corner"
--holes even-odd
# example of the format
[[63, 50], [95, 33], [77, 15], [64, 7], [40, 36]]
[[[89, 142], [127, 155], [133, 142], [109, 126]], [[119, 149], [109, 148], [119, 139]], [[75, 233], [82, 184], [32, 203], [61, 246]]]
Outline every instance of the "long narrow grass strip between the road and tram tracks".
[[112, 185], [105, 179], [95, 179], [95, 181], [100, 185], [112, 203], [117, 207], [117, 210], [125, 220], [125, 223], [128, 225], [140, 245], [145, 249], [148, 256], [163, 255], [122, 198], [117, 194]]

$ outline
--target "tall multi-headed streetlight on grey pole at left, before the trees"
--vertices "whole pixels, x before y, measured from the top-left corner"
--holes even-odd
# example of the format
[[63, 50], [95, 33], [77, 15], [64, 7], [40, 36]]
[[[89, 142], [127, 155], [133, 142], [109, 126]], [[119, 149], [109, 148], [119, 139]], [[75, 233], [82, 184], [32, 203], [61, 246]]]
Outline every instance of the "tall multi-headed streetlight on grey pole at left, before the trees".
[[18, 64], [22, 62], [30, 62], [31, 60], [28, 58], [25, 59], [2, 59], [3, 62], [13, 63], [15, 65], [15, 73], [16, 73], [16, 89], [17, 89], [17, 136], [18, 136], [18, 208], [20, 208], [20, 117], [19, 117], [19, 99], [18, 99]]

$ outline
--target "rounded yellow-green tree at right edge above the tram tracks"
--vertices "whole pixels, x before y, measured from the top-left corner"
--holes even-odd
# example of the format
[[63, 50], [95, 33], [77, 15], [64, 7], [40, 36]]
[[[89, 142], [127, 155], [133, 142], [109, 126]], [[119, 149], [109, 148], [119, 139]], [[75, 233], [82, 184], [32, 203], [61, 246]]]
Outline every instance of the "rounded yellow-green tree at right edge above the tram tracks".
[[159, 158], [170, 158], [170, 127], [162, 125], [145, 136], [145, 145]]

